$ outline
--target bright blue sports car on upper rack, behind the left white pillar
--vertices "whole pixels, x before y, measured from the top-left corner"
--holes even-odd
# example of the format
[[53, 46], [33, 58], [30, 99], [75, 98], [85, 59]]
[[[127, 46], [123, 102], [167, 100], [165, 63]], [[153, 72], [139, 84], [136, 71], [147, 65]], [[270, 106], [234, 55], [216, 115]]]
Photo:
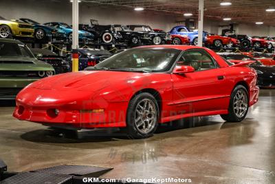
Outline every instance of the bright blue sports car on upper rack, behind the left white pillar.
[[[67, 25], [67, 23], [48, 22], [48, 23], [44, 23], [44, 25], [48, 25], [50, 27], [63, 30], [67, 34], [68, 41], [72, 42], [73, 28], [70, 25]], [[84, 30], [78, 30], [78, 35], [79, 35], [78, 38], [80, 41], [92, 41], [94, 39], [94, 34], [91, 34], [90, 32], [87, 32]]]

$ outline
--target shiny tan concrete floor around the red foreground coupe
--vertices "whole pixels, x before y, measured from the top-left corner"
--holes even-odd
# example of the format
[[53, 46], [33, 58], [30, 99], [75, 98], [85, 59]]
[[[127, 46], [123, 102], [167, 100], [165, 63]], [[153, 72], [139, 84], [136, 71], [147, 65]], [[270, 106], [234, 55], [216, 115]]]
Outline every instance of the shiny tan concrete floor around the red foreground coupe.
[[275, 183], [275, 90], [261, 90], [242, 123], [219, 116], [163, 125], [149, 139], [116, 130], [56, 132], [12, 118], [1, 103], [0, 158], [10, 171], [61, 164], [114, 169], [103, 178], [191, 178], [192, 183]]

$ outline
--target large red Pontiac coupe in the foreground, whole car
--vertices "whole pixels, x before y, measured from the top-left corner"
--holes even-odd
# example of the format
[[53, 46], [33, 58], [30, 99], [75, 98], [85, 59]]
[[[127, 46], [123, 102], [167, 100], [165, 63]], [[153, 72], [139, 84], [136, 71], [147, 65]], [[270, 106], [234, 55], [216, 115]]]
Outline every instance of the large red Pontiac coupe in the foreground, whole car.
[[28, 85], [13, 116], [50, 127], [121, 127], [146, 138], [158, 123], [188, 116], [242, 121], [258, 101], [256, 78], [245, 63], [230, 65], [207, 48], [150, 45]]

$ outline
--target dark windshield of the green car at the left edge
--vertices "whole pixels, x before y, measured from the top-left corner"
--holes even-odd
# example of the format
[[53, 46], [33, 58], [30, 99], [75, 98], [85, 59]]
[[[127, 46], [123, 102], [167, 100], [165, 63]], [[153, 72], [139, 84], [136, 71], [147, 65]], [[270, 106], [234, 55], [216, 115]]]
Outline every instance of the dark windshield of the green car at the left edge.
[[30, 49], [23, 44], [0, 42], [0, 58], [1, 57], [33, 58], [34, 55], [30, 52]]

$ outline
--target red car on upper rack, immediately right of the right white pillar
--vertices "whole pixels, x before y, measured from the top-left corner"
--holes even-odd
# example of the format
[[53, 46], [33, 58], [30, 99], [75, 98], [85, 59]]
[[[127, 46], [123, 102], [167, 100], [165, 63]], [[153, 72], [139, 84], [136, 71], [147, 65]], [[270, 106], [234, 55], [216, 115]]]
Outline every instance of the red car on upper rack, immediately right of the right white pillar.
[[217, 34], [210, 35], [208, 34], [206, 45], [212, 45], [215, 48], [221, 48], [222, 46], [226, 46], [228, 48], [236, 47], [240, 45], [240, 41], [230, 37], [223, 37]]

